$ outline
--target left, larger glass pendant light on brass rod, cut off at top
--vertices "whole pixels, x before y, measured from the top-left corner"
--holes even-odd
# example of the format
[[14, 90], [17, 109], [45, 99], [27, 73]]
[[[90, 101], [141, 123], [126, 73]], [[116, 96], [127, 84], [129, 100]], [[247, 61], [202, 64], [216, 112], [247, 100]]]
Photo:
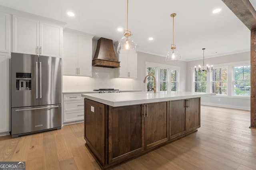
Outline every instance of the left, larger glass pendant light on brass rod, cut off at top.
[[131, 37], [131, 31], [128, 30], [128, 0], [127, 0], [127, 29], [124, 29], [124, 37], [122, 37], [117, 47], [118, 54], [135, 54], [137, 53], [137, 44]]

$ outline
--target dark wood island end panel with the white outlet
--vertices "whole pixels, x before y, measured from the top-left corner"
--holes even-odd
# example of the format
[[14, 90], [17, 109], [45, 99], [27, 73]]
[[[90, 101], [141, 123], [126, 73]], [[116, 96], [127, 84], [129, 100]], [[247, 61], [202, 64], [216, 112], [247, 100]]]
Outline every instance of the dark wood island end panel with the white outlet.
[[84, 139], [100, 164], [106, 164], [106, 105], [84, 100]]

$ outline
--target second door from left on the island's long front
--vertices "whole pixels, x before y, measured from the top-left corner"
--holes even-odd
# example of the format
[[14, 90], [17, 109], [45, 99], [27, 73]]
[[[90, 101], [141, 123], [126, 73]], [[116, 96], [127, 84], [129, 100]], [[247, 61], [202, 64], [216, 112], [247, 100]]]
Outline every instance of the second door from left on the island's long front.
[[167, 142], [169, 140], [169, 102], [145, 104], [144, 113], [146, 149]]

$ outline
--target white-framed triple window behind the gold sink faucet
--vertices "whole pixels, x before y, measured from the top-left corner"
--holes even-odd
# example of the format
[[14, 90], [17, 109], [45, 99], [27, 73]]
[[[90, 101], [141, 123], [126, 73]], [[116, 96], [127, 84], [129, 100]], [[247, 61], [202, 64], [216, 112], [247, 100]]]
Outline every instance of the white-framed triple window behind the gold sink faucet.
[[[156, 77], [156, 91], [177, 91], [178, 90], [178, 73], [180, 67], [166, 64], [146, 62], [146, 75], [153, 74]], [[145, 75], [145, 76], [146, 76]], [[154, 78], [146, 78], [146, 91], [154, 91]]]

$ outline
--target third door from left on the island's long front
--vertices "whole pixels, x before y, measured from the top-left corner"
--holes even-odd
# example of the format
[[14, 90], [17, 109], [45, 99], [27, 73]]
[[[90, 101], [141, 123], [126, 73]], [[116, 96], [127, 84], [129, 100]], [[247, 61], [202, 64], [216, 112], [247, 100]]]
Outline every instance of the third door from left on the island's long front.
[[170, 101], [170, 139], [186, 133], [186, 100]]

